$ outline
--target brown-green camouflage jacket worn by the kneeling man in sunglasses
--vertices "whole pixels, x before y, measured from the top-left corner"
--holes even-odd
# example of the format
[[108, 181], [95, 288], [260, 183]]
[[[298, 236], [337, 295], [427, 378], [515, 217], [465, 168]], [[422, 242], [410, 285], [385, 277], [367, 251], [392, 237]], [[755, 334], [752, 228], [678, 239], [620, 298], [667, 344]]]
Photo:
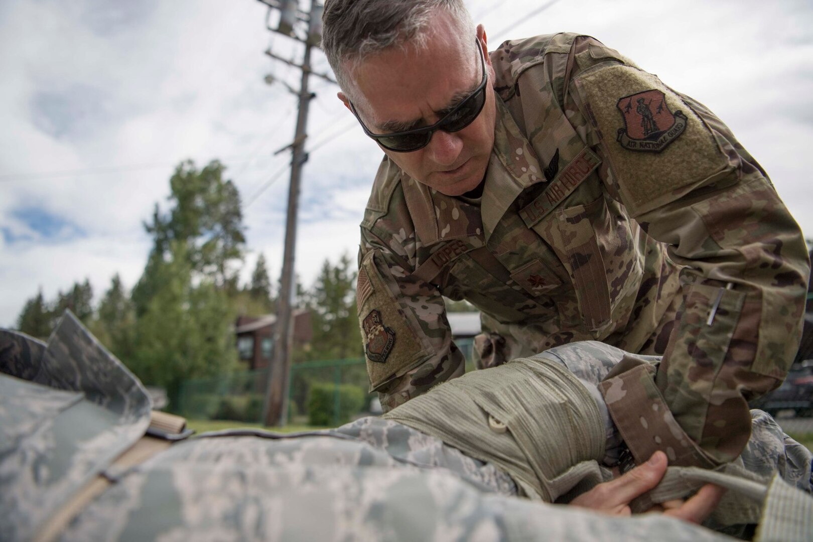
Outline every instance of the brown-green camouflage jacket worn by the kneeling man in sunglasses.
[[[602, 384], [638, 462], [659, 448], [677, 465], [736, 457], [746, 401], [793, 359], [808, 276], [767, 175], [706, 107], [593, 38], [490, 56], [480, 206], [388, 158], [376, 176], [358, 288], [372, 389], [389, 410], [462, 375], [441, 296], [467, 299], [483, 366], [574, 340], [664, 354], [654, 379], [631, 362]], [[670, 444], [653, 438], [665, 432]]]

